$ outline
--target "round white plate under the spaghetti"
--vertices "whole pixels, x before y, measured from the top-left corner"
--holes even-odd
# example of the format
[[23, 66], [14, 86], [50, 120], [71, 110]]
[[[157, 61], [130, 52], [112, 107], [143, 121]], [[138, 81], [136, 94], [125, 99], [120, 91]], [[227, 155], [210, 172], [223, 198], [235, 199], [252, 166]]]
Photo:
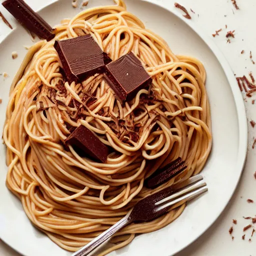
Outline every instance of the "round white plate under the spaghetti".
[[[109, 4], [110, 0], [90, 0], [87, 7]], [[247, 148], [247, 124], [242, 97], [234, 75], [215, 44], [193, 27], [192, 20], [180, 18], [173, 12], [141, 0], [126, 0], [128, 10], [137, 15], [146, 26], [161, 35], [177, 54], [197, 57], [207, 71], [207, 93], [212, 118], [213, 147], [202, 175], [209, 191], [191, 202], [181, 216], [158, 231], [142, 234], [126, 247], [110, 255], [168, 256], [187, 246], [201, 235], [227, 205], [239, 180]], [[174, 7], [171, 7], [174, 9]], [[60, 0], [39, 13], [52, 25], [60, 19], [72, 17], [79, 8], [71, 7], [71, 0]], [[0, 127], [2, 129], [11, 80], [25, 55], [23, 45], [31, 45], [25, 30], [18, 25], [0, 44]], [[16, 50], [18, 58], [11, 59]], [[64, 256], [62, 250], [34, 228], [19, 200], [5, 186], [5, 148], [0, 145], [0, 238], [25, 256]]]

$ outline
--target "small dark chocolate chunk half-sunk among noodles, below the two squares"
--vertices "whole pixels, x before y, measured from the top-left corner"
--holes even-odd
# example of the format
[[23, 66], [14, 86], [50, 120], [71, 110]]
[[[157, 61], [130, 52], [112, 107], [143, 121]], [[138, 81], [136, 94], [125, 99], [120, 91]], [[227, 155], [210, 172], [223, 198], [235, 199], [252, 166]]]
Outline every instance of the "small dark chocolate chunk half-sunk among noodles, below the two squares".
[[78, 126], [65, 140], [67, 144], [82, 149], [92, 158], [106, 162], [108, 148], [85, 126]]

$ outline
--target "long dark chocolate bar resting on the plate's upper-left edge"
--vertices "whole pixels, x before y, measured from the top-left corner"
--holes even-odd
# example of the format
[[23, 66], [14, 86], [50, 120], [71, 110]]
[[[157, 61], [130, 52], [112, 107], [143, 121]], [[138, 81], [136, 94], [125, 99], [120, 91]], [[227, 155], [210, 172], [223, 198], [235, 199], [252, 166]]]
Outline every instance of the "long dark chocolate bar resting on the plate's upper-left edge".
[[5, 0], [2, 5], [30, 32], [47, 41], [54, 38], [51, 26], [23, 0]]

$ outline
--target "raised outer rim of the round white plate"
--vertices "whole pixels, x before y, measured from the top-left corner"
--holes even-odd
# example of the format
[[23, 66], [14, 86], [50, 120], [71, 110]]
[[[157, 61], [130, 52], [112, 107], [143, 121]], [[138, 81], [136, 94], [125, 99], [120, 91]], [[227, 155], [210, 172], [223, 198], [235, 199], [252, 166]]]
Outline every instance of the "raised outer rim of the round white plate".
[[[46, 6], [43, 6], [41, 8], [37, 8], [36, 12], [40, 12], [43, 9], [45, 9], [45, 8], [49, 7], [50, 5], [55, 4], [56, 2], [59, 2], [59, 1], [61, 1], [61, 0], [53, 0], [51, 3], [47, 4]], [[134, 0], [131, 0], [131, 1], [134, 1]], [[238, 183], [240, 181], [240, 178], [241, 178], [241, 175], [242, 175], [242, 172], [243, 172], [243, 167], [244, 167], [244, 164], [245, 164], [245, 161], [246, 161], [246, 156], [247, 156], [248, 124], [247, 124], [246, 110], [245, 110], [245, 105], [244, 105], [244, 102], [243, 102], [243, 97], [242, 97], [242, 94], [241, 94], [238, 86], [236, 85], [236, 79], [234, 77], [234, 74], [233, 74], [233, 71], [231, 69], [231, 66], [228, 63], [228, 61], [225, 58], [225, 56], [222, 53], [222, 51], [218, 48], [218, 46], [210, 38], [210, 36], [208, 36], [200, 28], [199, 25], [195, 24], [192, 19], [187, 19], [187, 18], [183, 17], [183, 15], [180, 14], [179, 10], [176, 9], [174, 7], [174, 5], [171, 8], [170, 4], [167, 4], [168, 7], [166, 7], [166, 5], [164, 5], [163, 2], [158, 2], [158, 1], [156, 2], [155, 0], [139, 0], [139, 1], [147, 2], [147, 3], [151, 4], [151, 5], [155, 5], [157, 7], [161, 7], [164, 10], [170, 12], [176, 18], [178, 18], [179, 20], [183, 21], [187, 26], [189, 26], [189, 28], [191, 28], [192, 31], [194, 31], [204, 41], [204, 43], [209, 47], [209, 49], [212, 51], [212, 53], [216, 57], [219, 65], [221, 66], [221, 68], [222, 68], [222, 70], [224, 72], [224, 75], [226, 76], [226, 79], [228, 81], [229, 87], [231, 88], [231, 91], [232, 91], [232, 96], [234, 98], [234, 104], [235, 104], [235, 109], [236, 109], [236, 113], [237, 113], [239, 139], [238, 139], [238, 152], [237, 152], [236, 169], [237, 170], [239, 169], [239, 171], [237, 171], [237, 173], [236, 173], [236, 175], [238, 175], [238, 176], [236, 178], [236, 182], [234, 182], [234, 184], [233, 184], [232, 193], [230, 194], [226, 204], [219, 211], [219, 214], [214, 219], [209, 221], [207, 227], [205, 227], [205, 229], [203, 231], [201, 231], [198, 235], [196, 235], [196, 237], [191, 239], [191, 241], [189, 241], [186, 245], [181, 246], [178, 250], [174, 251], [173, 254], [171, 254], [171, 255], [174, 255], [174, 254], [180, 252], [181, 250], [183, 250], [184, 248], [186, 248], [187, 246], [189, 246], [191, 243], [193, 243], [195, 240], [197, 240], [201, 235], [203, 235], [210, 228], [210, 226], [218, 219], [218, 217], [221, 215], [221, 213], [227, 207], [229, 201], [231, 200], [232, 196], [234, 195], [236, 187], [237, 187], [237, 185], [238, 185]], [[124, 2], [125, 2], [125, 0], [124, 0]], [[3, 40], [0, 41], [0, 44], [4, 43], [4, 41], [7, 40], [8, 36], [15, 31], [15, 28], [12, 29], [12, 31], [9, 32], [3, 38]], [[16, 246], [10, 245], [10, 243], [7, 241], [7, 239], [4, 239], [3, 237], [0, 237], [0, 239], [5, 244], [7, 244], [9, 247], [11, 247], [16, 252], [18, 252], [19, 254], [26, 256], [25, 254], [22, 254], [22, 252], [20, 252], [20, 249], [16, 248]]]

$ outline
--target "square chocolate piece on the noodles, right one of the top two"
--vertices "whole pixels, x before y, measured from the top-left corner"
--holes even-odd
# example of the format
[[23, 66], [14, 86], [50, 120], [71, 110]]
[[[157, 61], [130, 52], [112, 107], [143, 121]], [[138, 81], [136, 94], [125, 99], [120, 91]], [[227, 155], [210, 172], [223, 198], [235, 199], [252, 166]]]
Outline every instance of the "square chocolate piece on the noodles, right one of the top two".
[[107, 64], [105, 79], [120, 101], [131, 99], [152, 82], [152, 78], [132, 52]]

